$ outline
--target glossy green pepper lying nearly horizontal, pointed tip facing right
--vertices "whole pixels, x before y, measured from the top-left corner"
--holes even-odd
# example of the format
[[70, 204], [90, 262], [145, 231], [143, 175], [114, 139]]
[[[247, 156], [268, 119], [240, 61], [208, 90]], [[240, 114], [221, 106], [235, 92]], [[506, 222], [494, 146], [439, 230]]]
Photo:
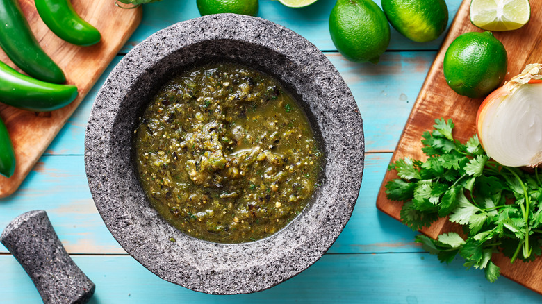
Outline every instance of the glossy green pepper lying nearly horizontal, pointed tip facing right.
[[0, 62], [0, 102], [33, 112], [62, 108], [77, 96], [75, 85], [57, 85], [23, 75]]

